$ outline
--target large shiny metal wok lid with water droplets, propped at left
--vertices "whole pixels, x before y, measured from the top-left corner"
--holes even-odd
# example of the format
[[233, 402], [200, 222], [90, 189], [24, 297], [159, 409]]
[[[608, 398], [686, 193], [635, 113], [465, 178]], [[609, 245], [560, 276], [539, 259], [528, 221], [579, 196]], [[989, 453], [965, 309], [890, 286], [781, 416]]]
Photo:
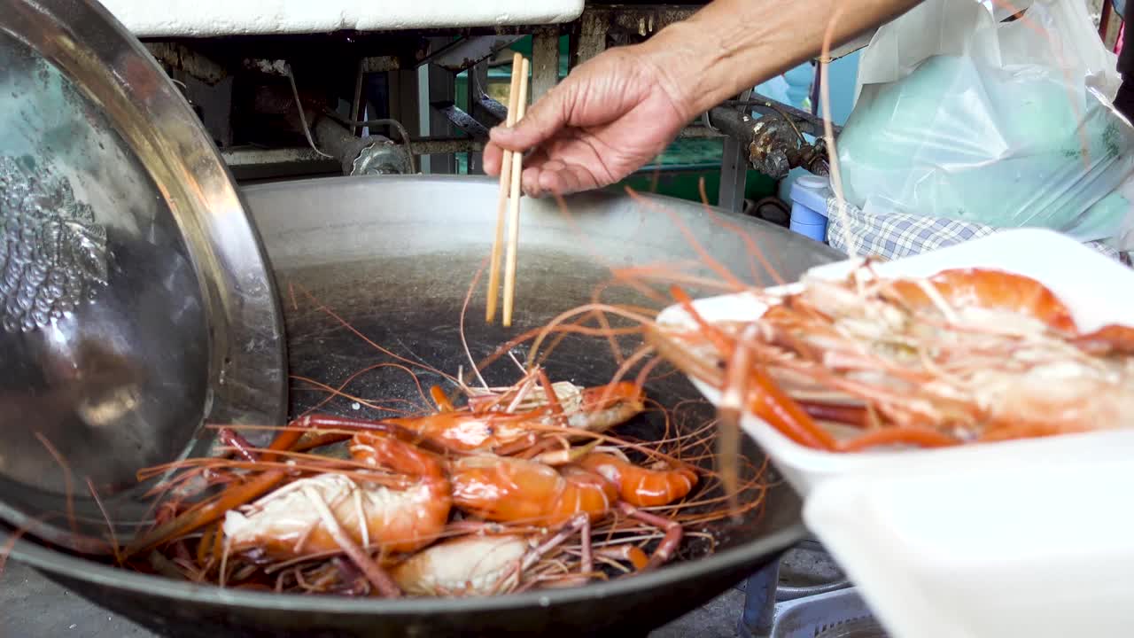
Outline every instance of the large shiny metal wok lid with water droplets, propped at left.
[[279, 423], [277, 304], [142, 44], [93, 0], [0, 0], [0, 517], [104, 552], [107, 518], [122, 540], [147, 517], [138, 469], [203, 452], [205, 422]]

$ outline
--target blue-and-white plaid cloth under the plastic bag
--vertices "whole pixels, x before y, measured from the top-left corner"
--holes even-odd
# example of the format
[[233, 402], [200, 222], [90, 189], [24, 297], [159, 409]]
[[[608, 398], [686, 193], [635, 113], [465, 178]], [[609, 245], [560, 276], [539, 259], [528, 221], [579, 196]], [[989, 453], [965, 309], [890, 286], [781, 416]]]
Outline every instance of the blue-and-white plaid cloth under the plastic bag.
[[[849, 238], [855, 254], [883, 259], [909, 257], [999, 232], [991, 226], [957, 219], [905, 213], [868, 213], [849, 203], [846, 204], [845, 217], [838, 212], [838, 200], [829, 198], [827, 243], [849, 254], [850, 246], [847, 245]], [[1131, 265], [1129, 253], [1119, 252], [1101, 242], [1088, 242], [1086, 245], [1111, 259]]]

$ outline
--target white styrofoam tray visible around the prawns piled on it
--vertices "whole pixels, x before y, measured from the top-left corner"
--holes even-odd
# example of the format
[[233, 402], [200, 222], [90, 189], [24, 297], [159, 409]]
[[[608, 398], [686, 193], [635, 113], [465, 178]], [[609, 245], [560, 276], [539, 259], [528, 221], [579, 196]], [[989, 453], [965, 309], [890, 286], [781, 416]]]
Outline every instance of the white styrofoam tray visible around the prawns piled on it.
[[[809, 274], [828, 279], [841, 278], [860, 263], [861, 260], [846, 260], [813, 268]], [[1051, 230], [1005, 230], [963, 244], [879, 263], [874, 269], [882, 276], [928, 277], [949, 268], [971, 267], [996, 268], [1038, 279], [1070, 309], [1083, 331], [1107, 324], [1134, 324], [1134, 270]], [[744, 293], [696, 300], [694, 308], [708, 321], [751, 321], [765, 310], [753, 295]], [[666, 309], [658, 317], [658, 322], [693, 326], [692, 319], [679, 305]], [[720, 393], [716, 388], [696, 379], [691, 380], [710, 402], [716, 404], [720, 401]], [[916, 456], [926, 461], [950, 457], [963, 450], [948, 447], [839, 454], [798, 445], [752, 414], [742, 418], [742, 426], [803, 496], [819, 482], [850, 470], [887, 463], [899, 456]], [[1063, 438], [1042, 439], [1040, 445], [1058, 447], [1063, 445]], [[1014, 446], [1024, 444], [1030, 445], [1026, 442], [1002, 442], [981, 446], [1002, 448], [1004, 453], [1010, 454]]]

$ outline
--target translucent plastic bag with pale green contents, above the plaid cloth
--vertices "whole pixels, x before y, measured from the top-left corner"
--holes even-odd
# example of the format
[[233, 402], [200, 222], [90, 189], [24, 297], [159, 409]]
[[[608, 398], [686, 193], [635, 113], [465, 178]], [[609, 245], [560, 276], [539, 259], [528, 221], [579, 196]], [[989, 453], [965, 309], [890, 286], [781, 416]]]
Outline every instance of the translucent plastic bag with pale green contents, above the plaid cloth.
[[988, 0], [929, 0], [874, 34], [838, 141], [847, 201], [1134, 247], [1117, 57], [1083, 0], [998, 17]]

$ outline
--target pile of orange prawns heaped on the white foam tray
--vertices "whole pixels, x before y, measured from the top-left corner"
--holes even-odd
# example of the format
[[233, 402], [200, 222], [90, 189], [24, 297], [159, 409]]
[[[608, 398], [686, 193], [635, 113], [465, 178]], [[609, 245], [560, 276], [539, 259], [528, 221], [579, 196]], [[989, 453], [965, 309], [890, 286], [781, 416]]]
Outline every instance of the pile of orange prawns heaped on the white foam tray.
[[[781, 292], [782, 291], [782, 292]], [[1123, 427], [1134, 413], [1134, 328], [1084, 334], [1035, 279], [966, 268], [883, 278], [805, 278], [753, 292], [751, 322], [709, 322], [675, 289], [693, 327], [650, 341], [809, 447], [950, 446]], [[837, 437], [829, 425], [860, 431]]]

